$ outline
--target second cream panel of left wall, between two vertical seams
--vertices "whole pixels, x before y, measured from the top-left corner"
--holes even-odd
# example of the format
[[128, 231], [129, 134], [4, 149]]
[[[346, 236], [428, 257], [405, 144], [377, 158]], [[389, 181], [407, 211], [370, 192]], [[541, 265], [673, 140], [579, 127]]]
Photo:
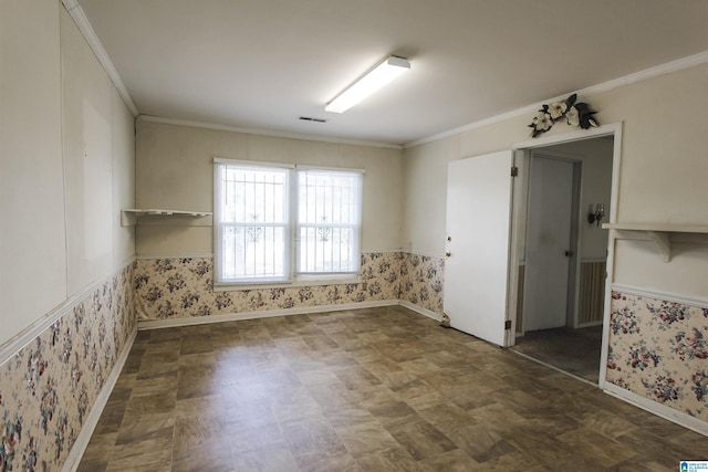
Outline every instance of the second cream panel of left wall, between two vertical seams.
[[113, 85], [62, 10], [64, 187], [69, 293], [113, 262]]

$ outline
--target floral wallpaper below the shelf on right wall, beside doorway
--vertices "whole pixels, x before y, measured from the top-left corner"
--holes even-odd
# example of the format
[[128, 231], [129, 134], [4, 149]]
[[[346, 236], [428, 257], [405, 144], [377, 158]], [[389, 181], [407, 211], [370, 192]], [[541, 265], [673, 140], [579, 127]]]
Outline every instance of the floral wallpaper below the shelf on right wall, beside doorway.
[[607, 381], [708, 421], [708, 307], [613, 292]]

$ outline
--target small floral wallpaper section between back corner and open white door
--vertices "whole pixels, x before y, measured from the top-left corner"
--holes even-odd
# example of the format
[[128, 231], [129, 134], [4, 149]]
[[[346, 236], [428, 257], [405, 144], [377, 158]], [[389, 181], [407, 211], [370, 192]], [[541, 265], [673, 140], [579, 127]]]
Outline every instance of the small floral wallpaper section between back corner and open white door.
[[441, 315], [445, 260], [407, 253], [402, 259], [398, 298]]

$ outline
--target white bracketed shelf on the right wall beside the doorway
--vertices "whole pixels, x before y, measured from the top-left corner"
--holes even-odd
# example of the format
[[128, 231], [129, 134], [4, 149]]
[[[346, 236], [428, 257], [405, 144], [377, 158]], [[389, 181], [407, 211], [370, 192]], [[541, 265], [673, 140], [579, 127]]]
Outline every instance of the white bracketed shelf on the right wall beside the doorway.
[[[662, 251], [664, 262], [671, 261], [674, 242], [694, 242], [708, 244], [708, 225], [702, 224], [660, 224], [660, 223], [604, 223], [605, 230], [618, 231], [617, 239], [642, 239], [656, 243]], [[643, 234], [636, 237], [636, 234]]]

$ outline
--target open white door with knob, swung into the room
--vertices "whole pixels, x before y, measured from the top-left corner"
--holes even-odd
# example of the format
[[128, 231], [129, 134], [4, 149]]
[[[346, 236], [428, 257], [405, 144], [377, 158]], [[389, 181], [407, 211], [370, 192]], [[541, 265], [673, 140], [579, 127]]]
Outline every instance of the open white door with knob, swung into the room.
[[444, 310], [450, 326], [506, 345], [513, 153], [455, 160], [447, 177]]

